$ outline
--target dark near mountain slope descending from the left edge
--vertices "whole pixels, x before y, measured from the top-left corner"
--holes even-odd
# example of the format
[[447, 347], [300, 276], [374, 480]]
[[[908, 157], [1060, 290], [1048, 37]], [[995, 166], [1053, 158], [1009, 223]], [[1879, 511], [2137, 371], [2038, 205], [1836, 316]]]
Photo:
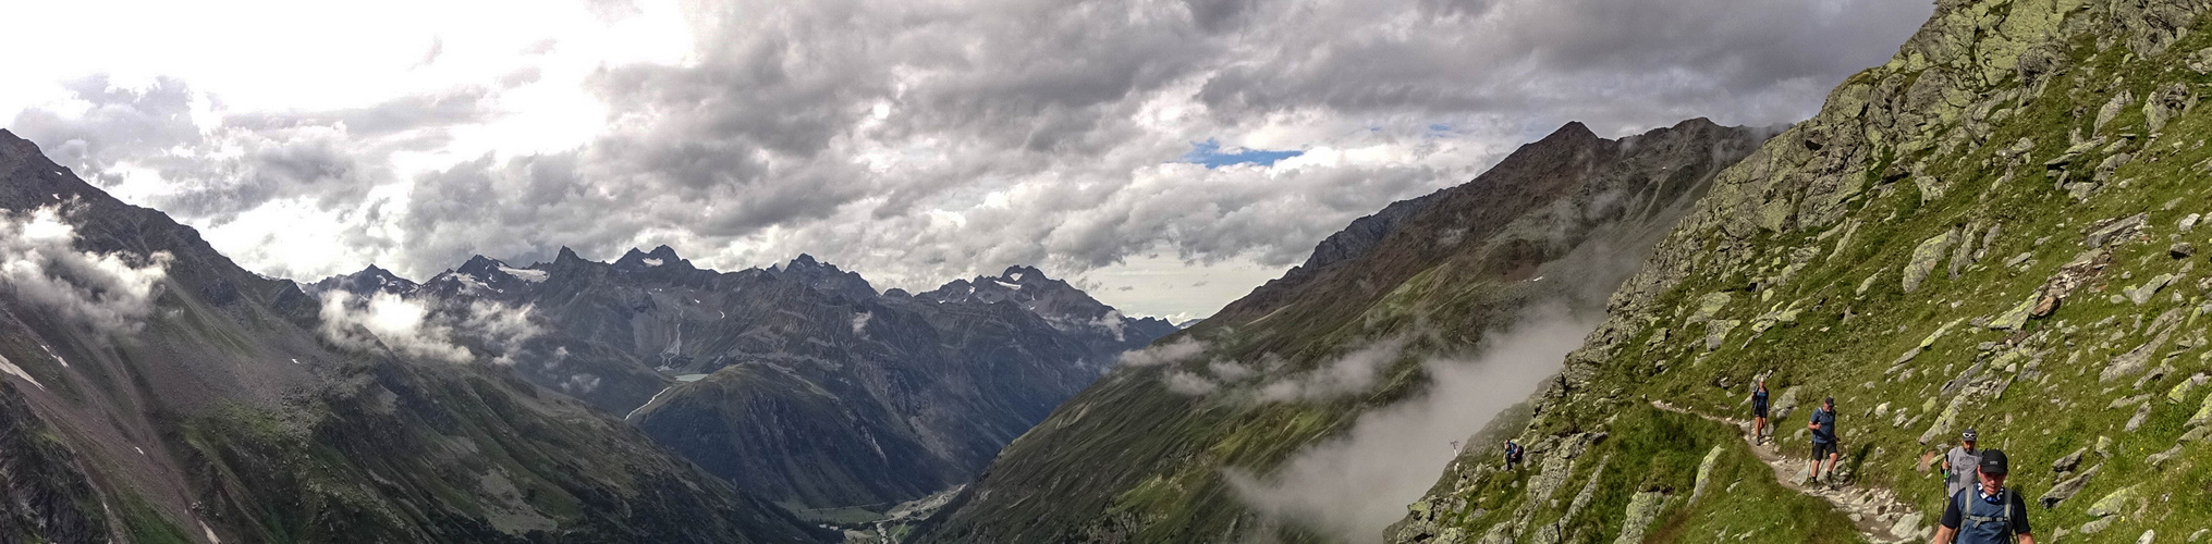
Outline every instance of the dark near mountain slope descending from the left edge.
[[[403, 341], [447, 336], [250, 274], [4, 130], [0, 261], [0, 542], [821, 537], [480, 349], [416, 356]], [[378, 276], [330, 290], [405, 285]]]

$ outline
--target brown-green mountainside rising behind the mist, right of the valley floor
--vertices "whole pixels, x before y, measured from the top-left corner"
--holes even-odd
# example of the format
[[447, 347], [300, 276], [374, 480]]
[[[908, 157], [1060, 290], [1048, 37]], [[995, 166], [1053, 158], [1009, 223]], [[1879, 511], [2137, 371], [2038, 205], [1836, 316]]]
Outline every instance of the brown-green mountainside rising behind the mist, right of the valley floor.
[[[1071, 398], [929, 520], [922, 540], [1298, 542], [1358, 526], [1254, 506], [1256, 495], [1310, 449], [1354, 436], [1367, 414], [1425, 398], [1431, 374], [1486, 365], [1444, 360], [1502, 343], [1491, 336], [1528, 312], [1601, 312], [1712, 175], [1759, 142], [1759, 130], [1705, 119], [1624, 139], [1568, 124], [1473, 181], [1358, 219], [1305, 265]], [[1449, 460], [1431, 458], [1416, 484]], [[1380, 533], [1389, 520], [1396, 511], [1367, 524]]]

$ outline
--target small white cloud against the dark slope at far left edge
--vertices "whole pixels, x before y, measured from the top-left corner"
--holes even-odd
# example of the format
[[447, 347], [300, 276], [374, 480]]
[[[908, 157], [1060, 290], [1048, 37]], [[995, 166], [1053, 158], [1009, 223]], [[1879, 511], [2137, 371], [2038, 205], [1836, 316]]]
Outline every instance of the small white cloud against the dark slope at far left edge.
[[100, 332], [144, 327], [168, 279], [168, 252], [82, 252], [64, 206], [0, 210], [0, 283]]

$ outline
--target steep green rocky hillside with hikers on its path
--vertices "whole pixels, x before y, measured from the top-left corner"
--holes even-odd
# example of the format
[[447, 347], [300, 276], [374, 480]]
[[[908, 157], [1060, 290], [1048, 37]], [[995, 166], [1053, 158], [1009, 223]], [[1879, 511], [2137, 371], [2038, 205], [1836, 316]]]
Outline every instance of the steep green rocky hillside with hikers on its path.
[[[1528, 469], [1462, 456], [1389, 540], [1924, 540], [1964, 427], [2011, 453], [2037, 542], [2205, 537], [2205, 9], [1940, 2], [1721, 172], [1537, 398]], [[1785, 458], [1836, 398], [1818, 493], [1851, 517], [1701, 418], [1747, 418], [1759, 376]]]

